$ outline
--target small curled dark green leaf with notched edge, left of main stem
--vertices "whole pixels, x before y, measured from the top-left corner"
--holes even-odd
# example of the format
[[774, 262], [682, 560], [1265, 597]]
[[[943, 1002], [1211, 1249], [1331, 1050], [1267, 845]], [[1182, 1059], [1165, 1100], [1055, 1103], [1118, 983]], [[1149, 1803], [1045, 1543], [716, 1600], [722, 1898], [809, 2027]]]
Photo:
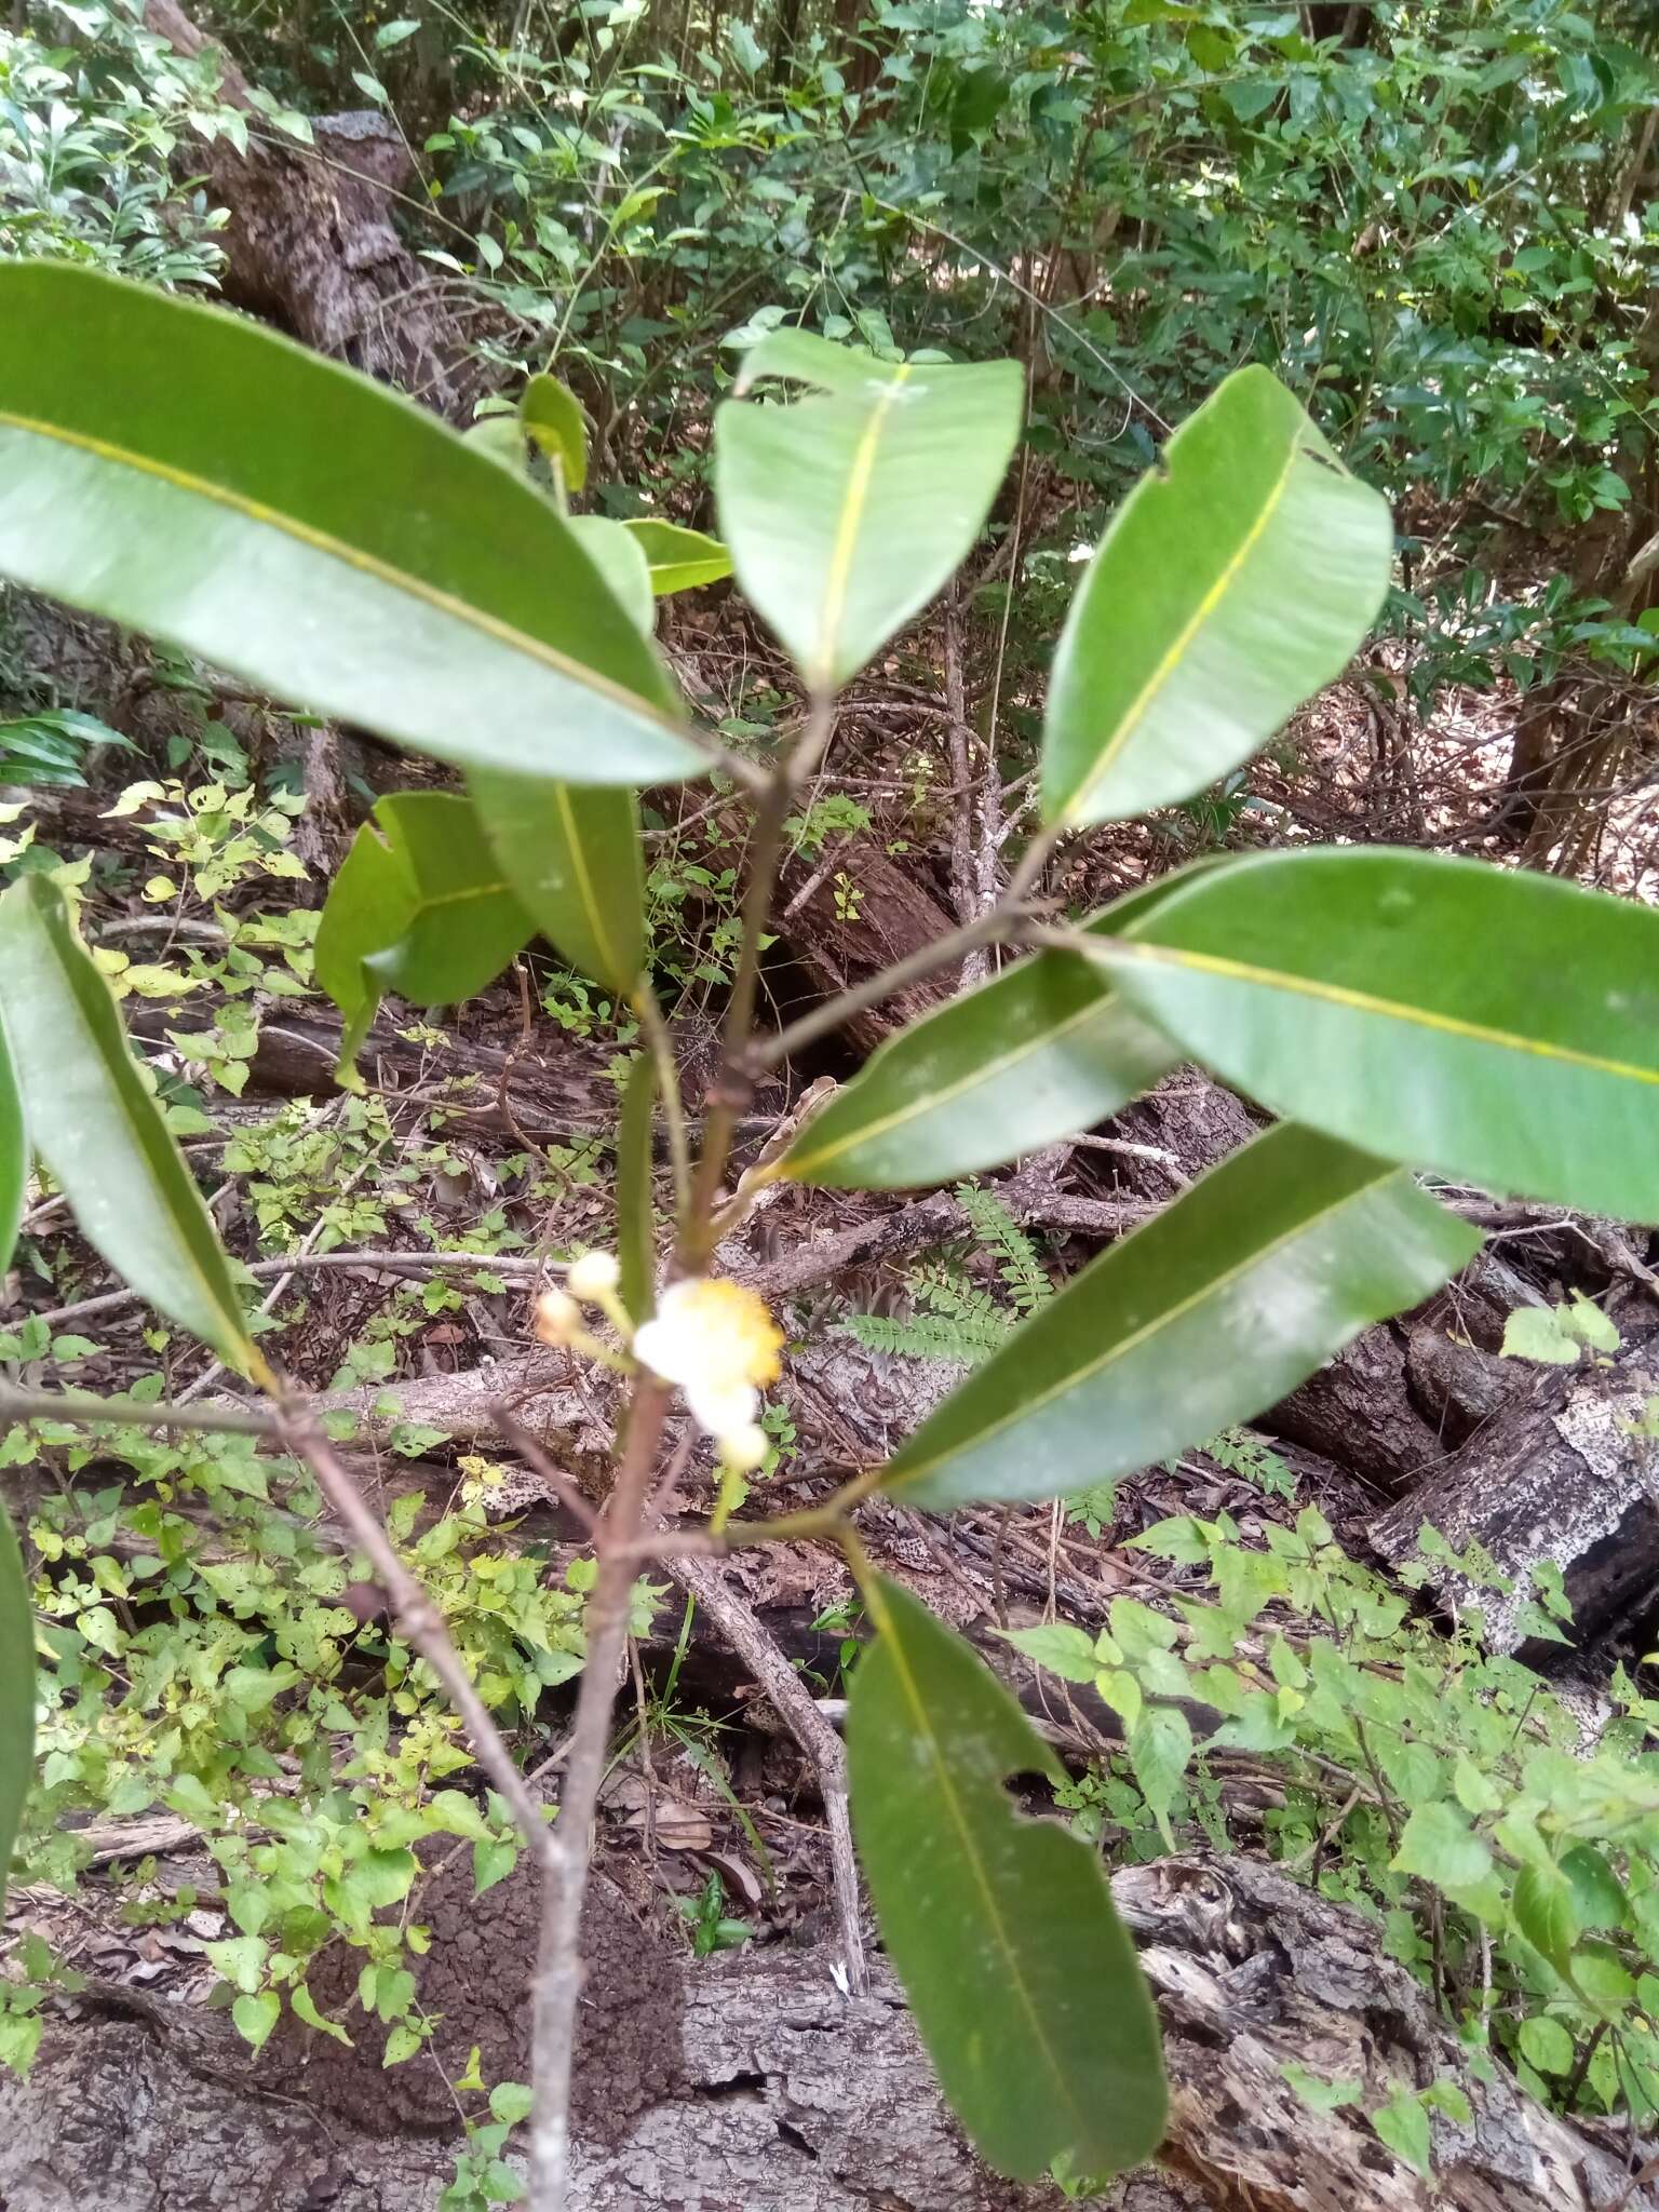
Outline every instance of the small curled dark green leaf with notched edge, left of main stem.
[[316, 980], [345, 1018], [341, 1068], [356, 1057], [383, 991], [416, 1006], [471, 998], [533, 929], [467, 799], [383, 799], [352, 841], [316, 927]]

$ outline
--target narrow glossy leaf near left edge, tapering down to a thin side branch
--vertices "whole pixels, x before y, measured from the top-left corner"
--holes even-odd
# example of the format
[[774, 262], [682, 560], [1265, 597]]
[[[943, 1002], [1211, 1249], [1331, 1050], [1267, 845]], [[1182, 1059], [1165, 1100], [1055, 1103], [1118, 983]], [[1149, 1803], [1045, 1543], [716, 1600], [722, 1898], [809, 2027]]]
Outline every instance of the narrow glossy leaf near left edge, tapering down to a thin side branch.
[[44, 876], [0, 896], [0, 1022], [29, 1139], [86, 1241], [228, 1367], [263, 1376], [201, 1192], [144, 1086], [111, 987]]

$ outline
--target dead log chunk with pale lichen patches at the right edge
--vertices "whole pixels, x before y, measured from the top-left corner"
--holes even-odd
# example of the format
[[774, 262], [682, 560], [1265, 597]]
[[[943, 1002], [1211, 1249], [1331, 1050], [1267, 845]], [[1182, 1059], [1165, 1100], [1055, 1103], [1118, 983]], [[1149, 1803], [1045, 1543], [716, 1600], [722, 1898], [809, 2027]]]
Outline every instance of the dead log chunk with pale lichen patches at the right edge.
[[1371, 1528], [1385, 1559], [1416, 1551], [1429, 1522], [1462, 1551], [1480, 1544], [1515, 1590], [1471, 1590], [1431, 1571], [1451, 1604], [1478, 1604], [1491, 1650], [1524, 1644], [1517, 1621], [1528, 1575], [1553, 1562], [1566, 1579], [1582, 1648], [1639, 1632], [1659, 1577], [1659, 1444], [1641, 1436], [1659, 1387], [1652, 1352], [1628, 1352], [1610, 1369], [1533, 1369], [1522, 1405], [1484, 1429]]

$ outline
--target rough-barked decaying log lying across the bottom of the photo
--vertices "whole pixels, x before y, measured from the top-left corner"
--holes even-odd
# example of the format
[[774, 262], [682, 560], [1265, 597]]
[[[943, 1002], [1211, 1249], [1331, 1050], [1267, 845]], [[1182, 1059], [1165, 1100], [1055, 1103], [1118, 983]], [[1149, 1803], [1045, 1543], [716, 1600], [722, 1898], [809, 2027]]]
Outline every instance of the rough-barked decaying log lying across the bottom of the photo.
[[[480, 1931], [487, 1940], [471, 1949], [478, 1982], [471, 1993], [447, 1991], [445, 2028], [462, 2048], [491, 2042], [493, 2057], [520, 2064], [495, 2039], [509, 2015], [522, 2015], [513, 2000], [529, 1975], [533, 1880], [520, 1871], [498, 1885], [509, 1887], [522, 1898], [480, 1900], [493, 1896], [495, 1907]], [[1422, 1986], [1383, 1955], [1376, 1927], [1358, 1913], [1252, 1860], [1203, 1854], [1126, 1867], [1113, 1891], [1159, 2002], [1172, 2119], [1166, 2168], [1119, 2181], [1097, 2203], [1659, 2212], [1659, 2194], [1632, 2185], [1610, 2130], [1551, 2117], [1502, 2070], [1478, 2081]], [[524, 1929], [513, 1947], [515, 1909]], [[577, 2201], [586, 2212], [1057, 2205], [1053, 2190], [1013, 2188], [973, 2161], [885, 1969], [869, 1997], [849, 2000], [827, 1951], [776, 1944], [695, 1964], [670, 1936], [624, 1920], [613, 1933], [626, 1938], [626, 1955], [606, 1944], [595, 1953], [595, 1995], [613, 1964], [666, 1982], [653, 1982], [659, 2033], [646, 2064], [617, 2002], [599, 2000], [595, 2017], [602, 2031], [613, 2024], [613, 2042], [591, 2037], [584, 2059]], [[456, 2108], [436, 2070], [427, 2066], [427, 2086], [416, 2084], [420, 2059], [380, 2073], [367, 2035], [361, 2055], [319, 2037], [319, 2055], [296, 2070], [290, 2044], [252, 2059], [223, 2013], [119, 1989], [73, 2011], [51, 2020], [29, 2081], [0, 2079], [7, 2212], [431, 2212], [451, 2172]], [[1285, 2064], [1358, 2081], [1360, 2097], [1314, 2112]], [[1425, 2181], [1365, 2112], [1400, 2084], [1438, 2079], [1462, 2088], [1471, 2121], [1433, 2117]], [[343, 2104], [376, 2119], [378, 2132]], [[1635, 2146], [1637, 2159], [1648, 2154]]]

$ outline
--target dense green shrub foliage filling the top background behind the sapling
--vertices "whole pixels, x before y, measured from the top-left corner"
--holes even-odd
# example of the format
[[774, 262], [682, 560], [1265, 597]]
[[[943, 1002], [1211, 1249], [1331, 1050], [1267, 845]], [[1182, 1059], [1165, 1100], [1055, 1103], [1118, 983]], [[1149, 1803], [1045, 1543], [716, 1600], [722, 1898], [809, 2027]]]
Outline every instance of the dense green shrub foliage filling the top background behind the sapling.
[[1018, 354], [1035, 646], [1159, 425], [1261, 361], [1420, 540], [1389, 619], [1425, 686], [1644, 650], [1577, 580], [1509, 582], [1517, 535], [1621, 509], [1650, 442], [1641, 9], [630, 0], [551, 46], [489, 9], [215, 27], [252, 115], [119, 9], [0, 31], [0, 252], [212, 283], [175, 148], [367, 102], [416, 148], [416, 241], [502, 310], [491, 356], [555, 365], [653, 495], [703, 473], [684, 429], [739, 325]]

